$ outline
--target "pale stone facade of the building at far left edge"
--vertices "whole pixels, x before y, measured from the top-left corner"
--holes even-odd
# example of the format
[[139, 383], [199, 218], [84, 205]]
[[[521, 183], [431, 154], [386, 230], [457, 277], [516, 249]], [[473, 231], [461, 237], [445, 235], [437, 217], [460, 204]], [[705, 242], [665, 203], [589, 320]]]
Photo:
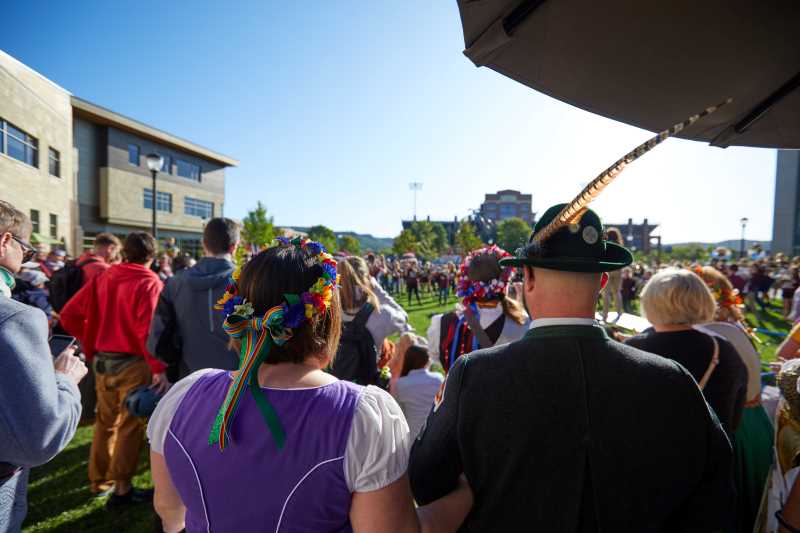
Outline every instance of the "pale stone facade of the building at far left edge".
[[[78, 210], [70, 94], [0, 51], [0, 119], [38, 143], [36, 167], [0, 153], [0, 198], [29, 216], [37, 211], [38, 233], [46, 237], [51, 237], [51, 216], [55, 216], [55, 239], [75, 253]], [[59, 154], [58, 177], [50, 175], [50, 148]]]

